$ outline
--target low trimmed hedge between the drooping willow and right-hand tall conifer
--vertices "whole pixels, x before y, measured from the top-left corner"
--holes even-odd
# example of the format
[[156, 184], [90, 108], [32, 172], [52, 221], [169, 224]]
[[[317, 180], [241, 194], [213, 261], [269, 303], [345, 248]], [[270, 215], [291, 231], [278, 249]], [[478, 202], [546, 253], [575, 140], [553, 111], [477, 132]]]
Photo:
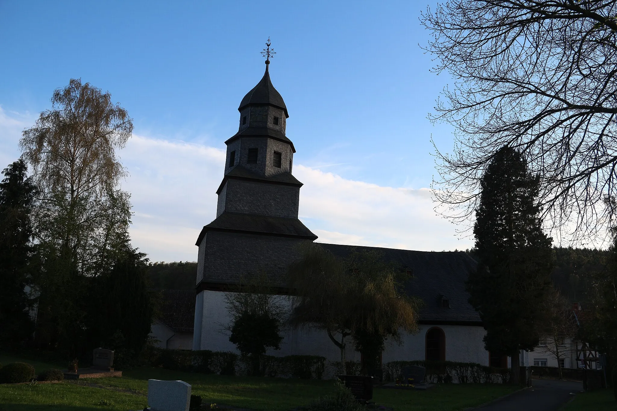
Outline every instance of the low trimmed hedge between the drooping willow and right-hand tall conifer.
[[384, 380], [403, 379], [403, 368], [419, 365], [426, 368], [426, 381], [431, 383], [508, 383], [508, 368], [487, 367], [474, 362], [454, 361], [392, 361], [384, 364]]

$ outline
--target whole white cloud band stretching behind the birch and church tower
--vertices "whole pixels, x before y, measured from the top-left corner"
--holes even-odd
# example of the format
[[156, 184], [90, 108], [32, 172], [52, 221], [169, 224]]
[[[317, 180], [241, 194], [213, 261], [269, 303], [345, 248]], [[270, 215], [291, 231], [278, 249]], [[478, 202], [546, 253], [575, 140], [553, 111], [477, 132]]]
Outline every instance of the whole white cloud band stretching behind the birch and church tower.
[[[34, 121], [0, 107], [2, 164], [19, 156], [21, 131]], [[135, 213], [133, 245], [152, 261], [196, 260], [197, 235], [216, 216], [225, 152], [136, 135], [120, 157], [129, 172], [123, 189], [131, 193]], [[294, 175], [304, 182], [300, 219], [318, 242], [439, 251], [471, 246], [436, 216], [429, 189], [381, 187], [302, 165], [294, 167]]]

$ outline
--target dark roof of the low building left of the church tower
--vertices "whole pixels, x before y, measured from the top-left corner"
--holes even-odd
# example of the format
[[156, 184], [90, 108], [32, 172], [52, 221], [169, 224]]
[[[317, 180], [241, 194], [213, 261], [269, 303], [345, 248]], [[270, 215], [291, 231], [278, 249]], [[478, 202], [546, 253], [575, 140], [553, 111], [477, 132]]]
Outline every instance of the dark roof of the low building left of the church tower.
[[195, 291], [154, 290], [162, 295], [157, 320], [175, 332], [193, 332], [195, 318]]

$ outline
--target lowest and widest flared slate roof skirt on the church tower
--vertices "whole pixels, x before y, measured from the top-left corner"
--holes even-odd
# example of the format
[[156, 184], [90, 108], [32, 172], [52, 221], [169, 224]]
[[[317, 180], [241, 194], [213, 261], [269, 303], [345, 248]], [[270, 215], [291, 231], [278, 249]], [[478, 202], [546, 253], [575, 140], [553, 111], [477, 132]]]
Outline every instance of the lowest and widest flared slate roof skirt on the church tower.
[[209, 230], [280, 235], [283, 237], [305, 238], [307, 240], [315, 240], [317, 238], [317, 235], [307, 229], [297, 218], [225, 212], [202, 228], [195, 245], [199, 246], [205, 233]]

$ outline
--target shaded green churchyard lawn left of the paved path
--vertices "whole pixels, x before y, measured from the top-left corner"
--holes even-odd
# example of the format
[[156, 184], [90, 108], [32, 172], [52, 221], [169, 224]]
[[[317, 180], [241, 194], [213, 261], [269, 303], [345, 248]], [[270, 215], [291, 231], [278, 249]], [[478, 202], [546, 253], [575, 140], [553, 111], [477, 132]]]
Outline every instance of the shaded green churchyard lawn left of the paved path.
[[[0, 362], [20, 360], [0, 356]], [[41, 372], [55, 364], [30, 362]], [[146, 406], [147, 380], [183, 380], [204, 402], [233, 405], [258, 411], [288, 411], [333, 391], [332, 381], [288, 380], [205, 375], [138, 368], [122, 378], [93, 378], [56, 384], [0, 385], [1, 411], [140, 410]], [[373, 400], [396, 411], [461, 410], [511, 393], [502, 385], [441, 385], [428, 391], [375, 388]]]

